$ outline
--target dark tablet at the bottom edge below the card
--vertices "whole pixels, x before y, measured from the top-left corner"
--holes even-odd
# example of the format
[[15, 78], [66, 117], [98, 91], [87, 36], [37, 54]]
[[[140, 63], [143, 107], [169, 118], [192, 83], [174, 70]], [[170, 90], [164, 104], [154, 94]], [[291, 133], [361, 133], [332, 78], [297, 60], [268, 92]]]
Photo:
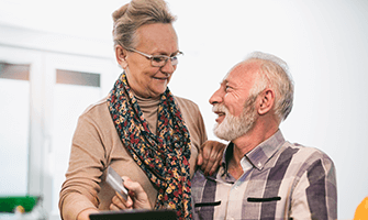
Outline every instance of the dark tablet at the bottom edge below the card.
[[101, 211], [89, 215], [90, 220], [177, 220], [174, 210], [133, 209]]

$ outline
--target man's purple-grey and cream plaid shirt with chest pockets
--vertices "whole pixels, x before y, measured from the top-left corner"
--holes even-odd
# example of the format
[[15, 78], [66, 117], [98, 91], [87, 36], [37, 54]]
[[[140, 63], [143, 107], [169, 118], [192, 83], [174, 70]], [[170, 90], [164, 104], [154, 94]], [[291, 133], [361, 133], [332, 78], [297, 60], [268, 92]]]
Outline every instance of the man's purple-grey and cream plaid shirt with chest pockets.
[[226, 162], [212, 176], [192, 179], [193, 219], [337, 219], [335, 167], [323, 152], [285, 141], [281, 131], [241, 161], [235, 179]]

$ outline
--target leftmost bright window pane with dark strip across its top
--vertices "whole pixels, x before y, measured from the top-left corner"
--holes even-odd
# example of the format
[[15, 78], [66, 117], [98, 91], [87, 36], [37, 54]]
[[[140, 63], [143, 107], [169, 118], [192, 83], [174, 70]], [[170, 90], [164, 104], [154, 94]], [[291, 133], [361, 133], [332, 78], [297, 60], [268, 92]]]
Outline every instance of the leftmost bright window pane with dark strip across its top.
[[0, 62], [0, 196], [27, 193], [30, 65]]

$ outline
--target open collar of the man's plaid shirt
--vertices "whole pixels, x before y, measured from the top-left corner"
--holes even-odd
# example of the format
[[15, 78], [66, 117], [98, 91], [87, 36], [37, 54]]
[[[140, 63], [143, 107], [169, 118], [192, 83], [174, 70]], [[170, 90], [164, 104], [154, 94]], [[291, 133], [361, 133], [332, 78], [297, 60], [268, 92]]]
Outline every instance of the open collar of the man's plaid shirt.
[[[278, 130], [272, 136], [261, 142], [258, 146], [248, 152], [241, 161], [243, 169], [252, 164], [253, 167], [257, 169], [263, 169], [265, 164], [268, 162], [270, 157], [281, 147], [285, 143], [283, 135], [280, 130]], [[231, 142], [223, 154], [222, 166], [227, 173], [227, 163], [230, 158], [233, 156], [234, 144]], [[243, 162], [243, 163], [242, 163]]]

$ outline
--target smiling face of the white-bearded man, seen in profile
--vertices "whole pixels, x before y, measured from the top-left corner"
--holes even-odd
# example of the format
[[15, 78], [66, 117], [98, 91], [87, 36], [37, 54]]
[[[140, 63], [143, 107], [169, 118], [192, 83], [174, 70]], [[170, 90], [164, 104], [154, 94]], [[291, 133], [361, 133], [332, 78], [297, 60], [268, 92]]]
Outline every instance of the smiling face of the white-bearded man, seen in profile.
[[219, 116], [214, 133], [220, 139], [233, 141], [253, 128], [257, 119], [256, 99], [249, 92], [256, 80], [258, 66], [256, 62], [236, 65], [210, 98], [213, 112]]

